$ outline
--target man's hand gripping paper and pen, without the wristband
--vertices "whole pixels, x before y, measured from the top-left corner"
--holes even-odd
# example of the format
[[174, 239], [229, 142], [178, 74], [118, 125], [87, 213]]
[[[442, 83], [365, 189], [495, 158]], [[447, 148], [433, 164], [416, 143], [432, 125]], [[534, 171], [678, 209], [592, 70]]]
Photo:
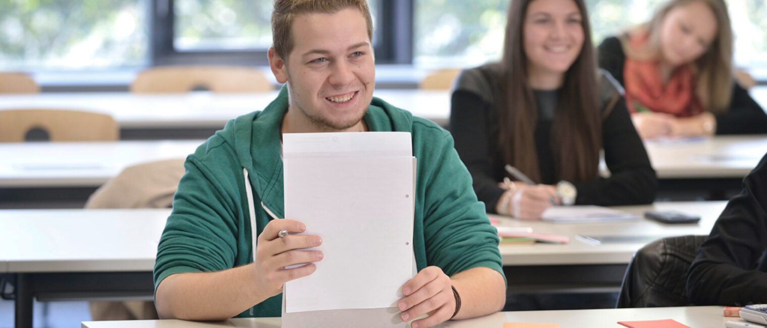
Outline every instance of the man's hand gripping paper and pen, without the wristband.
[[[288, 231], [285, 237], [279, 237], [281, 230]], [[290, 280], [306, 277], [317, 270], [312, 262], [322, 260], [321, 251], [299, 251], [302, 248], [314, 248], [322, 244], [318, 235], [295, 235], [306, 231], [306, 225], [299, 221], [285, 219], [269, 221], [255, 249], [253, 271], [258, 298], [265, 300], [282, 292], [282, 286]], [[285, 267], [308, 263], [301, 267]]]

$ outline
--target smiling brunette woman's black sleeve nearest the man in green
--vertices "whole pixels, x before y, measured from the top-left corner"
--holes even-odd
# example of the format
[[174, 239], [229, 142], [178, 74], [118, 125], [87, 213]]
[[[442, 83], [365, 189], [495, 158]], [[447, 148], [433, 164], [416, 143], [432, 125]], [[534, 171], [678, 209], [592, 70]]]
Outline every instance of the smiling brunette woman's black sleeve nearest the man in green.
[[495, 176], [498, 163], [493, 157], [497, 152], [497, 140], [492, 139], [488, 126], [490, 104], [476, 93], [456, 90], [450, 102], [449, 130], [453, 133], [458, 155], [472, 175], [474, 192], [481, 202], [485, 202], [486, 211], [495, 213], [495, 203], [504, 190], [498, 182], [502, 176]]

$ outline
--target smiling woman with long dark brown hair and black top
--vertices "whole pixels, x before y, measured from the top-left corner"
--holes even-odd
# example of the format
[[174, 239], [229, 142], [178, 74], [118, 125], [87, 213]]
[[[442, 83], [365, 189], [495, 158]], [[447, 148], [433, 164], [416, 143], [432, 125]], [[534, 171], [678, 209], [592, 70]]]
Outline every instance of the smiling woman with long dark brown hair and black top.
[[[502, 62], [463, 71], [450, 113], [487, 211], [538, 219], [552, 203], [653, 202], [655, 172], [619, 86], [597, 71], [583, 0], [513, 0], [507, 24]], [[502, 182], [516, 178], [505, 164], [535, 184]]]

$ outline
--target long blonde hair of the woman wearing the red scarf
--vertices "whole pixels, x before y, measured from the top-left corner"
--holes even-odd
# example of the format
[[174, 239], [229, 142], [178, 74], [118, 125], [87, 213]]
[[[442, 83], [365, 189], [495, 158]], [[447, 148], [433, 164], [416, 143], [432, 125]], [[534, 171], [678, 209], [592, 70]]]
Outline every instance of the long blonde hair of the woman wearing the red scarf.
[[[732, 26], [723, 0], [670, 0], [655, 11], [653, 18], [621, 35], [621, 44], [627, 57], [648, 60], [660, 56], [660, 25], [671, 9], [692, 2], [703, 2], [716, 16], [718, 31], [709, 49], [693, 62], [696, 72], [696, 95], [703, 108], [713, 113], [729, 110], [732, 100]], [[631, 34], [647, 34], [647, 42], [641, 49], [630, 46]]]

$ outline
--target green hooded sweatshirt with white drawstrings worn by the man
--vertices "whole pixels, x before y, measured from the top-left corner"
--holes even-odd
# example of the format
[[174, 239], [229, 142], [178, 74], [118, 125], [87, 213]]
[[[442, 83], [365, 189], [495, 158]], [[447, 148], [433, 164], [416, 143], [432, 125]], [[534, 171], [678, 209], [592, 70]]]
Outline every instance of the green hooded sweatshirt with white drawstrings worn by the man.
[[[155, 290], [171, 274], [222, 271], [253, 261], [254, 221], [261, 234], [272, 220], [267, 211], [277, 218], [285, 213], [279, 133], [287, 110], [283, 87], [265, 110], [229, 120], [186, 158], [186, 174], [157, 247]], [[418, 159], [413, 222], [418, 270], [436, 265], [452, 276], [489, 267], [503, 274], [498, 235], [453, 149], [453, 137], [376, 97], [364, 120], [371, 131], [411, 133]], [[280, 315], [281, 294], [238, 317]]]

